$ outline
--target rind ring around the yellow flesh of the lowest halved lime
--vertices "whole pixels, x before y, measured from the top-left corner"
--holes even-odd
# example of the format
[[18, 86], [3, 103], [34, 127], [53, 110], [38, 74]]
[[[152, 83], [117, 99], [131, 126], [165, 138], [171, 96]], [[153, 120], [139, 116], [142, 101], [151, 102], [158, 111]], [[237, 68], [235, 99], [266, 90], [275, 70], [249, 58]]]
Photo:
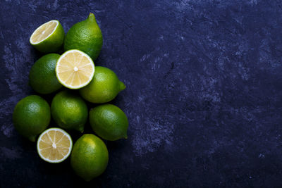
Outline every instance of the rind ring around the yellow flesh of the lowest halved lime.
[[[60, 160], [51, 161], [51, 160], [49, 160], [48, 158], [44, 158], [44, 157], [41, 155], [41, 153], [39, 152], [39, 141], [41, 140], [43, 134], [44, 134], [45, 132], [48, 132], [49, 130], [58, 130], [58, 131], [61, 131], [63, 134], [65, 134], [65, 135], [70, 139], [70, 149], [69, 149], [68, 153], [66, 154], [66, 156], [64, 156], [64, 157], [63, 157], [62, 159], [60, 159]], [[42, 158], [42, 160], [44, 160], [44, 161], [46, 161], [46, 162], [49, 162], [49, 163], [61, 163], [61, 162], [65, 161], [66, 158], [68, 158], [68, 156], [71, 155], [72, 149], [73, 149], [73, 139], [71, 139], [71, 135], [68, 134], [68, 132], [66, 132], [65, 130], [62, 130], [62, 129], [60, 129], [60, 128], [49, 128], [49, 129], [47, 129], [47, 130], [44, 130], [44, 132], [42, 132], [42, 133], [40, 134], [40, 136], [38, 137], [38, 139], [37, 139], [37, 153], [38, 153], [39, 157]]]

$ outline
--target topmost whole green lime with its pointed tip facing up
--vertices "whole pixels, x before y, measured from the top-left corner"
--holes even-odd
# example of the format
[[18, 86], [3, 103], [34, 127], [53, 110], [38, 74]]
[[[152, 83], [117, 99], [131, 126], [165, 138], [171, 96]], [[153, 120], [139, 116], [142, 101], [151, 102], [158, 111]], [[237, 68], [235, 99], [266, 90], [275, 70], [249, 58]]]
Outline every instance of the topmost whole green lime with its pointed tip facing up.
[[95, 60], [100, 54], [102, 45], [102, 32], [99, 25], [97, 25], [94, 14], [90, 13], [86, 20], [75, 23], [68, 30], [66, 39], [63, 42], [63, 49], [65, 51], [79, 49]]

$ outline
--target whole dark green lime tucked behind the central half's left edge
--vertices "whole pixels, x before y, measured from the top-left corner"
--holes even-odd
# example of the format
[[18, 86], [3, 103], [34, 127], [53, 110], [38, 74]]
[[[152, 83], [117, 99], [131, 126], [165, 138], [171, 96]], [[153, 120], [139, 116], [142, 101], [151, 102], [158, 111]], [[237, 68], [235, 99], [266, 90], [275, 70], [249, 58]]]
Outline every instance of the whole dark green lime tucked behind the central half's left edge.
[[59, 54], [47, 54], [39, 58], [30, 69], [30, 85], [35, 92], [50, 94], [62, 85], [56, 78], [55, 68]]

